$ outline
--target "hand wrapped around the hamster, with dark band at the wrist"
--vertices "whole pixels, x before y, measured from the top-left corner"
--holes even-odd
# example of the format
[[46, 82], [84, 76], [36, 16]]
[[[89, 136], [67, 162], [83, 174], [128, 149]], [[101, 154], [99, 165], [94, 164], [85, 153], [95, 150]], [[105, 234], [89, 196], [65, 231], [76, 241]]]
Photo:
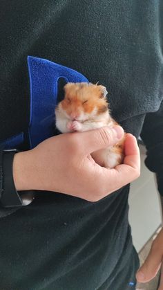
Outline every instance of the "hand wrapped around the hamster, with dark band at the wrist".
[[[117, 129], [117, 132], [115, 131]], [[109, 170], [95, 163], [91, 152], [114, 145], [124, 131], [104, 127], [66, 133], [15, 154], [13, 177], [17, 190], [48, 190], [98, 201], [140, 176], [140, 151], [126, 134], [124, 164]]]

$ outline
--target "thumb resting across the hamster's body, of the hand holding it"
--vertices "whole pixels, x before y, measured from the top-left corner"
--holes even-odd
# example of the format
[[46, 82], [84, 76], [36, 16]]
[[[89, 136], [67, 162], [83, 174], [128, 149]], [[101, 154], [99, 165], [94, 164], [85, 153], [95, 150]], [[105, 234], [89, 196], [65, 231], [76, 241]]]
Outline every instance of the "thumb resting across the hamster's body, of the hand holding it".
[[115, 145], [124, 135], [124, 130], [120, 126], [112, 128], [102, 127], [82, 134], [82, 144], [84, 145], [86, 154], [90, 154], [99, 149]]

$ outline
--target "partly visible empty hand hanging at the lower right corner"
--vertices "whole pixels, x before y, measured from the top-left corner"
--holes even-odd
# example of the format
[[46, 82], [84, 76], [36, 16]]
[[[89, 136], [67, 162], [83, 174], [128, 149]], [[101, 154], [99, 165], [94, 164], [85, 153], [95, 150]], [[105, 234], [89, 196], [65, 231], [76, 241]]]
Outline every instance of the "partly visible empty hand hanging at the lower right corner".
[[163, 289], [163, 229], [154, 239], [151, 251], [148, 254], [144, 264], [137, 271], [137, 281], [146, 283], [152, 280], [161, 268], [161, 279], [158, 290]]

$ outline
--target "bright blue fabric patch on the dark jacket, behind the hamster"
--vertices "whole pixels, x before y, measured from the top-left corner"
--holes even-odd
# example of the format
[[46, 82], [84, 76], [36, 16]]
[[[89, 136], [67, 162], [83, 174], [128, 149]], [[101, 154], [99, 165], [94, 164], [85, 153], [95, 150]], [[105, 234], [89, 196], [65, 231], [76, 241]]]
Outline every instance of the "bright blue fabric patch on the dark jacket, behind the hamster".
[[88, 82], [81, 73], [39, 57], [28, 56], [28, 72], [30, 78], [28, 132], [21, 132], [3, 141], [0, 144], [3, 149], [18, 147], [23, 143], [25, 135], [28, 137], [29, 149], [53, 136], [59, 79], [64, 78], [66, 82]]

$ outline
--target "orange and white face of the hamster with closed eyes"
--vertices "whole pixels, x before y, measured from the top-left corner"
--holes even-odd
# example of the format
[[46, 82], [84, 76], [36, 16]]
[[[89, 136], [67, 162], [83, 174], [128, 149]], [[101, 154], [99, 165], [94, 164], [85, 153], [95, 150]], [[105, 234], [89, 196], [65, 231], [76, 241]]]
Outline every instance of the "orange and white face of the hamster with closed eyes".
[[108, 111], [106, 88], [86, 82], [68, 83], [60, 109], [70, 120], [84, 122]]

